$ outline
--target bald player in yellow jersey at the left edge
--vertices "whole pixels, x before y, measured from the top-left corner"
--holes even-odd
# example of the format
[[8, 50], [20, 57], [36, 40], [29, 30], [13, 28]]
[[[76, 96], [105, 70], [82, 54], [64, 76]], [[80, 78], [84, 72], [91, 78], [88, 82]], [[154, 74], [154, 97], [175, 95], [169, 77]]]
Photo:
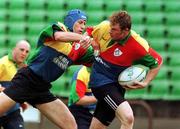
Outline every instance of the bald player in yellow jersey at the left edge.
[[[11, 79], [17, 70], [25, 67], [25, 60], [30, 52], [30, 45], [26, 40], [20, 40], [8, 55], [0, 59], [0, 92], [11, 86]], [[20, 104], [16, 103], [10, 110], [0, 117], [0, 128], [24, 129], [24, 120], [20, 114]]]

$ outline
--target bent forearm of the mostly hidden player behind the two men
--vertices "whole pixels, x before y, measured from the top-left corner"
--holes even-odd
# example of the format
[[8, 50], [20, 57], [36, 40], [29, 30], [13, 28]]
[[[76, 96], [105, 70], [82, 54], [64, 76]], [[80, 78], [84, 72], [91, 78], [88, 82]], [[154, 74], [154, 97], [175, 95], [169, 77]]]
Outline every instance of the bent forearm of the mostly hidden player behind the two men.
[[89, 105], [96, 103], [97, 100], [94, 96], [84, 96], [79, 101], [76, 102], [77, 105]]

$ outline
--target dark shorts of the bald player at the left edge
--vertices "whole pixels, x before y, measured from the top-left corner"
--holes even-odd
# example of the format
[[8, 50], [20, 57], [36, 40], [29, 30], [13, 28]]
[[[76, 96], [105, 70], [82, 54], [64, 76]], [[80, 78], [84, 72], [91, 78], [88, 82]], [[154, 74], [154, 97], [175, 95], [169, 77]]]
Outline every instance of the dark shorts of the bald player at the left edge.
[[20, 114], [20, 110], [0, 117], [0, 128], [1, 127], [4, 129], [24, 129], [24, 120]]

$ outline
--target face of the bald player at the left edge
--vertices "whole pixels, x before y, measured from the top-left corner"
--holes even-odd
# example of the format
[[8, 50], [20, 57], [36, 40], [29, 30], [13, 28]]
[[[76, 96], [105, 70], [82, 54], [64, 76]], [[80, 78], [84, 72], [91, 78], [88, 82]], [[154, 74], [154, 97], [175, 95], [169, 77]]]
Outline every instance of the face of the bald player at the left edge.
[[14, 60], [16, 63], [22, 63], [26, 60], [28, 54], [29, 54], [29, 45], [19, 45], [14, 49]]

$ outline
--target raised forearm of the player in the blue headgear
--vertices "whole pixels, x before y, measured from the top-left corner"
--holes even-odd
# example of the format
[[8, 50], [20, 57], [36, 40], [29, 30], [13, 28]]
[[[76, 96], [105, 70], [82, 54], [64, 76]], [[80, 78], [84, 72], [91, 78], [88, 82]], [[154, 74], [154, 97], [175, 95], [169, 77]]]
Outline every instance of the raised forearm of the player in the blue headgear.
[[73, 33], [73, 32], [55, 32], [55, 40], [63, 42], [74, 42], [79, 41], [83, 38], [83, 35]]

